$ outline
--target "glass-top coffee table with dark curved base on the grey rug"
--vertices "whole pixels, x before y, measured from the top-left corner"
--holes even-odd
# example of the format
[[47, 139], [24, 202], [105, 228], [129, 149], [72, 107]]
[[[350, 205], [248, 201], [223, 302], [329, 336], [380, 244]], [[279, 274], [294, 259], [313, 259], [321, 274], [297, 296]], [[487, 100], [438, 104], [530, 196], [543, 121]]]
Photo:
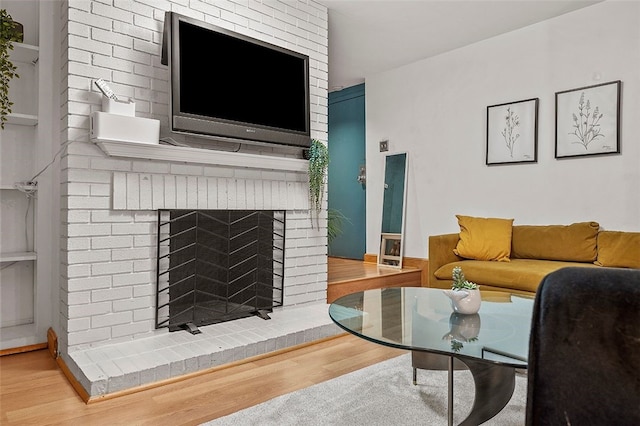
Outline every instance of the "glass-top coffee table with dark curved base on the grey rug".
[[[486, 422], [509, 402], [515, 369], [527, 368], [533, 297], [481, 291], [480, 311], [453, 312], [441, 289], [399, 287], [348, 294], [329, 306], [341, 328], [363, 339], [444, 360], [449, 370], [449, 425], [453, 424], [454, 359], [468, 367], [475, 383], [471, 412], [461, 425]], [[430, 362], [431, 362], [430, 361]], [[424, 362], [423, 362], [424, 363]], [[427, 363], [428, 364], [428, 363]]]

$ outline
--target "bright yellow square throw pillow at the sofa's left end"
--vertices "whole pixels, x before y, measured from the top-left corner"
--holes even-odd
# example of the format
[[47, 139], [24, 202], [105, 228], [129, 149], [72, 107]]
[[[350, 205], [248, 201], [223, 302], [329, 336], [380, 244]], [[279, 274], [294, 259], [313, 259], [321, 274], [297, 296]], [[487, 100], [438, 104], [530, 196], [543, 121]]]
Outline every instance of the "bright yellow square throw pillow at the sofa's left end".
[[460, 240], [453, 252], [466, 259], [509, 262], [513, 219], [456, 215]]

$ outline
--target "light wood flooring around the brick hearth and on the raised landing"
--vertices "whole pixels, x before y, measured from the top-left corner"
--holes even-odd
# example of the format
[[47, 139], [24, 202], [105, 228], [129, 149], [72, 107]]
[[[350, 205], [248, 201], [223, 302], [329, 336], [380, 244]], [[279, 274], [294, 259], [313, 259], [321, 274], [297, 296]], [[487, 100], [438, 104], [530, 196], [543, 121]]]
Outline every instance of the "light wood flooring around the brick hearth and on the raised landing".
[[[397, 272], [330, 259], [329, 281]], [[47, 350], [0, 357], [1, 425], [197, 425], [405, 353], [343, 335], [176, 383], [85, 404]], [[407, 366], [409, 368], [409, 366]]]

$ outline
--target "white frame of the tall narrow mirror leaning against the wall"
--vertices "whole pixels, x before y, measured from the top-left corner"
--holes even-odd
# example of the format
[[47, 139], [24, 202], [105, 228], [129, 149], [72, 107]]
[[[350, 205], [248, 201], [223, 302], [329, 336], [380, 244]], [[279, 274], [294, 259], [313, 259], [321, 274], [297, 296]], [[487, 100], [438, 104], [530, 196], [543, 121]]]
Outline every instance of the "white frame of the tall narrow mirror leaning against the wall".
[[[384, 223], [384, 206], [385, 206], [385, 197], [386, 197], [386, 177], [387, 177], [387, 161], [389, 157], [395, 155], [404, 155], [404, 188], [402, 194], [402, 211], [400, 218], [400, 233], [385, 233], [382, 232], [382, 227]], [[402, 268], [402, 257], [404, 254], [404, 226], [406, 222], [406, 211], [407, 211], [407, 184], [409, 182], [409, 154], [407, 152], [395, 152], [386, 154], [384, 157], [384, 170], [382, 174], [382, 209], [381, 209], [381, 221], [380, 221], [380, 245], [378, 250], [378, 265], [386, 266], [391, 268]], [[397, 248], [393, 248], [393, 252], [388, 252], [387, 248], [389, 247], [390, 242], [397, 242]], [[395, 244], [395, 243], [393, 243]], [[392, 246], [393, 247], [393, 246]]]

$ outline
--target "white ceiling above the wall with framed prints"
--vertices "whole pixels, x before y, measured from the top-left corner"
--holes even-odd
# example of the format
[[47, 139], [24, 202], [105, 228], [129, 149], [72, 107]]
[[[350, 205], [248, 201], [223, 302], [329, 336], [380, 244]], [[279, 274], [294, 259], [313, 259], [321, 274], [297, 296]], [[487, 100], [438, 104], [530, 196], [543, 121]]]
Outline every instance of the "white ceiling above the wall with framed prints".
[[599, 1], [318, 0], [329, 8], [329, 91]]

